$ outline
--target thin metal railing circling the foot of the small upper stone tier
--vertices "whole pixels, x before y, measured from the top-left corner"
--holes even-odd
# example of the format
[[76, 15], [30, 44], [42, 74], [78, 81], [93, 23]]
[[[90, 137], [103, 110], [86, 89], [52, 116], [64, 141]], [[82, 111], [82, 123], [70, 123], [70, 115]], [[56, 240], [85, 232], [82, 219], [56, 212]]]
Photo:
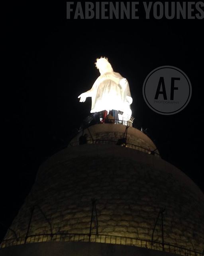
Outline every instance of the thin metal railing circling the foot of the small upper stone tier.
[[[118, 145], [118, 141], [116, 140], [86, 140], [87, 144], [111, 144], [111, 145]], [[78, 146], [80, 145], [80, 143], [78, 141], [76, 142], [71, 142], [69, 144], [70, 146]], [[155, 151], [153, 150], [150, 150], [150, 149], [147, 149], [147, 148], [143, 148], [141, 146], [137, 146], [135, 144], [130, 144], [130, 143], [127, 143], [125, 142], [124, 145], [120, 145], [120, 146], [125, 146], [126, 148], [132, 148], [134, 150], [139, 150], [139, 151], [142, 151], [144, 153], [147, 153], [147, 154], [153, 154], [154, 156], [157, 156], [157, 157], [160, 157], [160, 155], [158, 153], [156, 153]]]

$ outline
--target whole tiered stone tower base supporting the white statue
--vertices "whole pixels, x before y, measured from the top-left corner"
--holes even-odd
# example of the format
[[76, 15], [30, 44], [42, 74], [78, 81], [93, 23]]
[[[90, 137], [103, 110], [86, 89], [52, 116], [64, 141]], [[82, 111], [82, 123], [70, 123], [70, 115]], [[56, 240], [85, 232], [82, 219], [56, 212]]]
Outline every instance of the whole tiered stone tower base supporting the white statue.
[[8, 256], [203, 255], [204, 194], [144, 133], [95, 124], [41, 165], [1, 248]]

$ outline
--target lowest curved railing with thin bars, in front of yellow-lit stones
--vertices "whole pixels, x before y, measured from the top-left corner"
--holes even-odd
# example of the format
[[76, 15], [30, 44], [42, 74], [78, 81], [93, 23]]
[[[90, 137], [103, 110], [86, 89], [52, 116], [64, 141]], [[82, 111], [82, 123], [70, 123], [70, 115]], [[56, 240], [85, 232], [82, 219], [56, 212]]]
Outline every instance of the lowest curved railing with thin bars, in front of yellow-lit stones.
[[[88, 241], [90, 241], [90, 234], [89, 233], [84, 234], [84, 233], [67, 233], [66, 232], [66, 233], [55, 233], [55, 234], [54, 233], [51, 233], [51, 234], [50, 233], [48, 233], [48, 234], [46, 233], [46, 234], [33, 234], [33, 235], [29, 235], [29, 236], [27, 236], [27, 242], [26, 243], [32, 243], [32, 242], [28, 241], [28, 238], [33, 238], [33, 237], [36, 238], [37, 237], [38, 241], [39, 241], [39, 238], [40, 237], [44, 237], [44, 236], [47, 236], [47, 239], [48, 239], [48, 237], [50, 237], [51, 240], [54, 240], [55, 236], [60, 236], [60, 240], [62, 238], [64, 239], [64, 236], [69, 236], [69, 241], [73, 237], [74, 237], [73, 241], [75, 241], [75, 242], [88, 242]], [[77, 237], [77, 236], [78, 236], [78, 241], [75, 240], [75, 237]], [[80, 239], [80, 236], [84, 237], [83, 241]], [[85, 237], [87, 238], [87, 241], [84, 241]], [[100, 238], [100, 243], [104, 243], [104, 242], [101, 242], [101, 238], [102, 237], [105, 238], [105, 241], [107, 240], [107, 238], [110, 238], [110, 241], [114, 240], [114, 238], [115, 238], [115, 241], [116, 241], [116, 238], [119, 238], [120, 241], [122, 239], [125, 239], [126, 243], [124, 245], [127, 244], [127, 240], [130, 240], [131, 241], [131, 246], [137, 246], [137, 247], [141, 247], [141, 248], [143, 247], [142, 246], [142, 242], [145, 242], [146, 248], [148, 248], [147, 247], [147, 243], [149, 243], [149, 245], [150, 245], [149, 249], [152, 249], [151, 240], [148, 240], [148, 239], [132, 238], [132, 237], [124, 237], [124, 236], [114, 236], [114, 235], [106, 235], [106, 234], [98, 234], [98, 235], [97, 234], [91, 234], [91, 237], [95, 237], [95, 241], [94, 242], [98, 242], [98, 241], [96, 241], [96, 238]], [[0, 248], [9, 247], [9, 246], [18, 245], [18, 244], [24, 244], [24, 240], [25, 240], [25, 237], [5, 239], [0, 244]], [[10, 241], [13, 241], [12, 245], [10, 245], [11, 244]], [[16, 244], [14, 244], [14, 241], [16, 241]], [[21, 241], [22, 241], [22, 243], [21, 243]], [[69, 241], [67, 241], [67, 242], [69, 242]], [[141, 246], [136, 245], [136, 243], [132, 244], [132, 241], [135, 241], [135, 242], [139, 241], [139, 242], [141, 242]], [[6, 245], [7, 242], [9, 243], [8, 245]], [[34, 242], [35, 242], [35, 239], [34, 239]], [[92, 242], [92, 241], [90, 241], [90, 242]], [[110, 242], [110, 243], [114, 244], [112, 242]], [[115, 244], [117, 244], [117, 243], [115, 242]], [[161, 248], [163, 246], [163, 243], [162, 242], [158, 242], [158, 241], [154, 241], [153, 244], [161, 245]], [[180, 255], [186, 255], [186, 256], [189, 255], [189, 254], [190, 255], [194, 255], [194, 256], [196, 256], [196, 255], [198, 255], [198, 256], [204, 255], [203, 252], [197, 252], [197, 251], [194, 251], [194, 250], [191, 250], [191, 249], [187, 249], [187, 248], [184, 248], [184, 247], [181, 247], [181, 246], [177, 246], [177, 245], [173, 245], [173, 244], [169, 244], [169, 243], [164, 243], [164, 246], [165, 246], [165, 249], [169, 248], [169, 252], [173, 252], [174, 251], [175, 254], [177, 254], [176, 253], [176, 249], [179, 249], [179, 250], [184, 250], [184, 252], [185, 252], [185, 254], [181, 254], [181, 252], [180, 252]], [[172, 251], [170, 250], [171, 247], [173, 248]], [[155, 250], [155, 248], [154, 248], [154, 250]], [[158, 246], [156, 246], [156, 250], [159, 250]]]

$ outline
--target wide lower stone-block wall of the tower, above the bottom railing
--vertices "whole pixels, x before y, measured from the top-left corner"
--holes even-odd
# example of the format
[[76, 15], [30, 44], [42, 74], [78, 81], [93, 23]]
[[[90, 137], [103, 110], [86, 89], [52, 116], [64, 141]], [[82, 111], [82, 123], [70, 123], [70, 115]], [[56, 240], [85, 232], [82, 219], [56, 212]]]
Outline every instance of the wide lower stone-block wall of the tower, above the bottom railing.
[[[96, 198], [98, 232], [151, 240], [160, 208], [164, 242], [202, 251], [204, 195], [180, 170], [161, 158], [112, 145], [67, 148], [39, 169], [36, 182], [11, 228], [26, 236], [30, 208], [39, 205], [53, 233], [88, 233]], [[95, 230], [93, 230], [95, 232]], [[50, 233], [39, 210], [29, 234]], [[6, 238], [12, 238], [8, 231]], [[161, 218], [154, 240], [161, 241]]]

